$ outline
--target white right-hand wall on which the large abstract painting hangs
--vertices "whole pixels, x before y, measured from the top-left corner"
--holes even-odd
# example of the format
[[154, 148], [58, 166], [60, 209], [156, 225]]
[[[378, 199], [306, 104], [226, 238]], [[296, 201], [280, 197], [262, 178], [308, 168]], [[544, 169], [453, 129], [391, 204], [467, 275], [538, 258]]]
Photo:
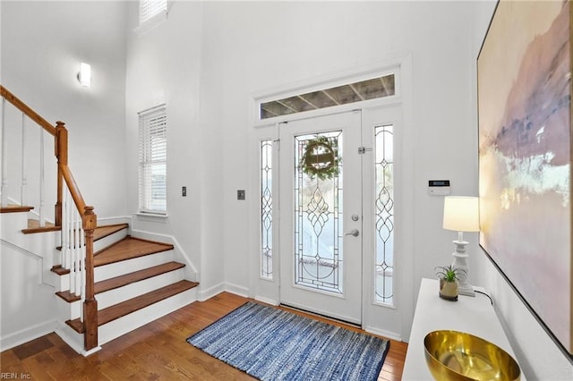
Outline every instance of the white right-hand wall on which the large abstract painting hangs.
[[[475, 59], [479, 54], [494, 8], [495, 2], [483, 2], [475, 8], [475, 33], [472, 40]], [[476, 70], [475, 67], [473, 70]], [[473, 81], [472, 94], [476, 98], [476, 76]], [[476, 102], [475, 100], [475, 105]], [[473, 110], [475, 130], [476, 108]], [[477, 275], [476, 284], [481, 284], [492, 292], [494, 307], [526, 377], [544, 380], [573, 379], [573, 363], [567, 359], [567, 355], [553, 343], [551, 336], [535, 320], [483, 250], [477, 247], [477, 243], [473, 246], [472, 254], [476, 260], [472, 273]]]

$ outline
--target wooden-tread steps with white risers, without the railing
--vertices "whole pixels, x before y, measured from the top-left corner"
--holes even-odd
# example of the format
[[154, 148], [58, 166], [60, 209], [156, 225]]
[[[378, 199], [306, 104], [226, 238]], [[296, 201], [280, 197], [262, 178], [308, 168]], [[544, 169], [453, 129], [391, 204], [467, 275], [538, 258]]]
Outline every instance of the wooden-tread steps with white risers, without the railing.
[[[128, 224], [112, 224], [98, 226], [94, 232], [99, 345], [197, 300], [198, 284], [184, 279], [185, 265], [174, 260], [174, 246], [133, 237], [128, 230]], [[54, 271], [58, 273], [57, 268]], [[62, 318], [67, 318], [72, 335], [84, 334], [76, 305], [80, 298], [70, 290], [56, 295], [68, 305], [70, 315]]]

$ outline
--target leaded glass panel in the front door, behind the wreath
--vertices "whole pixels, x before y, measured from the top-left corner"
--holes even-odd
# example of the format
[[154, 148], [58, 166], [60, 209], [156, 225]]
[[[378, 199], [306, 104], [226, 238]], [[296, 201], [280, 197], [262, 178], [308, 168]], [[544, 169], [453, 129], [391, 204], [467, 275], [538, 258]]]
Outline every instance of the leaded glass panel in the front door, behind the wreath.
[[295, 137], [295, 284], [343, 293], [342, 131]]

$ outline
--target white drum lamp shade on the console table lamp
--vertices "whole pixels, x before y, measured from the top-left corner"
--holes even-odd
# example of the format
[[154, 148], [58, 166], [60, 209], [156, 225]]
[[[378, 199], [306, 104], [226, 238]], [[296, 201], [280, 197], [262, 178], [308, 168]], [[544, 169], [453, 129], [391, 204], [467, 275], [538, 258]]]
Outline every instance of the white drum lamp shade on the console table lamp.
[[447, 196], [444, 199], [444, 229], [457, 232], [479, 232], [479, 199]]

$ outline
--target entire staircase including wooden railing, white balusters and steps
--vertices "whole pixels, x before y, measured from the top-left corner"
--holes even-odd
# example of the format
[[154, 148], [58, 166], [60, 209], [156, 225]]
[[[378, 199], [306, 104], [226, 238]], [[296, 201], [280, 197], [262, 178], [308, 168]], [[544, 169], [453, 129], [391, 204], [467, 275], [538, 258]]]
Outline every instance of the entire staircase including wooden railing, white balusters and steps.
[[[52, 126], [1, 85], [0, 91], [3, 102], [0, 239], [11, 250], [42, 263], [42, 268], [38, 267], [40, 284], [53, 286], [57, 295], [56, 334], [75, 351], [88, 355], [98, 351], [100, 345], [196, 301], [198, 284], [187, 280], [195, 279], [196, 271], [186, 266], [192, 264], [173, 243], [138, 238], [129, 224], [98, 225], [94, 208], [82, 199], [67, 163], [68, 132], [64, 123]], [[27, 207], [24, 202], [29, 198], [30, 179], [24, 171], [27, 167], [24, 152], [28, 146], [23, 139], [21, 186], [19, 190], [11, 187], [7, 162], [14, 157], [8, 156], [12, 144], [8, 138], [14, 132], [4, 125], [7, 103], [21, 112], [21, 117], [16, 118], [21, 119], [21, 131], [26, 119], [36, 123], [47, 139], [54, 139], [57, 176], [52, 179], [56, 202], [51, 221], [43, 196], [43, 189], [50, 186], [45, 184], [43, 176], [43, 151], [39, 159], [40, 179], [35, 182], [40, 190], [38, 204]], [[24, 135], [19, 131], [16, 134]], [[43, 146], [43, 135], [41, 139]], [[141, 234], [153, 236], [150, 232]], [[169, 240], [166, 236], [162, 238]]]

